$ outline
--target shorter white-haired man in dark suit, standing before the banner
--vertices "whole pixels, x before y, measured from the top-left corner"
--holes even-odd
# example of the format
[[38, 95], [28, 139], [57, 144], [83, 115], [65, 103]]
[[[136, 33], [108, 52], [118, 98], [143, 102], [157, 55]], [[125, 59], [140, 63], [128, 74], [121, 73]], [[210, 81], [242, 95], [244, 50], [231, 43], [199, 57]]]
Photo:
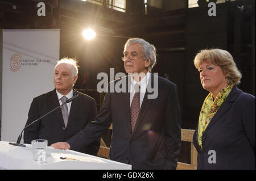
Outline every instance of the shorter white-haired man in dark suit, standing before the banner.
[[[78, 98], [26, 128], [24, 143], [31, 144], [31, 141], [36, 139], [48, 140], [48, 145], [66, 141], [95, 119], [98, 114], [96, 101], [72, 89], [77, 81], [77, 66], [77, 62], [72, 58], [63, 58], [57, 62], [54, 71], [55, 90], [33, 99], [26, 125], [60, 106], [72, 96], [80, 94]], [[92, 143], [76, 150], [97, 155], [99, 147], [100, 138], [97, 138]]]

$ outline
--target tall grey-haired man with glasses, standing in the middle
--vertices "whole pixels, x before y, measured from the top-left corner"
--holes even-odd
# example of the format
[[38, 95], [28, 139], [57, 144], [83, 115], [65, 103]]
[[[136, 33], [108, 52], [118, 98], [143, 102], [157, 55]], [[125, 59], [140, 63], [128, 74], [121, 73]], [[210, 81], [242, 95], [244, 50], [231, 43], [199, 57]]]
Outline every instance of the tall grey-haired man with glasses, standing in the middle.
[[123, 53], [129, 75], [110, 82], [96, 120], [67, 142], [52, 146], [77, 149], [88, 145], [113, 123], [110, 159], [130, 164], [132, 169], [176, 169], [181, 140], [176, 85], [150, 73], [156, 63], [154, 45], [129, 39]]

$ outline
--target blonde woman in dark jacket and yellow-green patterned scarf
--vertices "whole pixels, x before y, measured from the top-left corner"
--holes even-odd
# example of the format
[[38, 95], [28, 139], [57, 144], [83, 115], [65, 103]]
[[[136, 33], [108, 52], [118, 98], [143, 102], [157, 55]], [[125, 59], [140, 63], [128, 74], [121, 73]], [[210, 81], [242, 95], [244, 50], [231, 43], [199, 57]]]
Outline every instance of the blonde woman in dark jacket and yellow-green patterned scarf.
[[255, 169], [255, 96], [238, 89], [242, 75], [232, 55], [204, 49], [194, 64], [209, 91], [193, 135], [197, 169]]

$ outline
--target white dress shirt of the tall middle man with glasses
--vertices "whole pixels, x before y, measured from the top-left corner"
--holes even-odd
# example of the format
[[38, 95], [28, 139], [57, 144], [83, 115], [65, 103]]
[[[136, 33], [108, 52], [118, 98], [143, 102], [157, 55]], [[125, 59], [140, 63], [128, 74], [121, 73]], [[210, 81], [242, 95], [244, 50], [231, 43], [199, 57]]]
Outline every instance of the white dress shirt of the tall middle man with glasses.
[[134, 86], [136, 83], [139, 83], [139, 107], [141, 108], [141, 105], [142, 105], [142, 101], [143, 101], [143, 98], [144, 98], [144, 95], [145, 95], [145, 92], [147, 90], [147, 83], [148, 83], [148, 80], [150, 79], [150, 72], [147, 71], [147, 74], [145, 77], [143, 77], [141, 79], [141, 81], [137, 82], [135, 81], [133, 78], [131, 78], [131, 86], [130, 86], [130, 106], [131, 106], [131, 102], [133, 101], [133, 96], [135, 94], [135, 90], [134, 90]]

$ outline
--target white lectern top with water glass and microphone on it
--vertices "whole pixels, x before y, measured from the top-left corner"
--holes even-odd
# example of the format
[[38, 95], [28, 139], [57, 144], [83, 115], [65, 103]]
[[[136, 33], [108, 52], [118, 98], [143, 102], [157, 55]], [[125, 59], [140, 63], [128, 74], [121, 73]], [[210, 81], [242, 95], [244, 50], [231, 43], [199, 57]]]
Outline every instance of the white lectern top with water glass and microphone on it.
[[[0, 169], [36, 169], [36, 170], [131, 170], [131, 165], [95, 157], [73, 150], [57, 150], [48, 146], [47, 163], [32, 160], [32, 148], [9, 145], [0, 141]], [[67, 159], [61, 159], [67, 158]]]

